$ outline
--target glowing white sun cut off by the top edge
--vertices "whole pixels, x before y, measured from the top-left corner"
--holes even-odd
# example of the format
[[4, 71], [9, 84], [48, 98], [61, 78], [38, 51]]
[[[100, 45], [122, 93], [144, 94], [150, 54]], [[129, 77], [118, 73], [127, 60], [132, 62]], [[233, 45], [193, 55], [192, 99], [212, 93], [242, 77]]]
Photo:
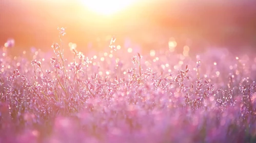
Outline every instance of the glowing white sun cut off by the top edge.
[[122, 1], [122, 0], [84, 0], [83, 3], [88, 7], [90, 10], [104, 14], [109, 15], [113, 14], [115, 12], [118, 12], [127, 6], [134, 3], [135, 0], [128, 0], [128, 1]]

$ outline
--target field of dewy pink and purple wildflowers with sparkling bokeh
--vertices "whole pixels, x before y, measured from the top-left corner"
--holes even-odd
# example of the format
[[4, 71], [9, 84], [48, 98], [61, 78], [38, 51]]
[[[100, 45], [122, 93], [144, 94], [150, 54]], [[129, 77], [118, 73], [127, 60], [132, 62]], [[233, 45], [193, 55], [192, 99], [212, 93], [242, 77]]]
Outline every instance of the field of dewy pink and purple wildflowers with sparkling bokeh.
[[190, 57], [175, 41], [137, 53], [115, 37], [83, 54], [58, 30], [51, 56], [2, 46], [0, 142], [256, 142], [256, 58]]

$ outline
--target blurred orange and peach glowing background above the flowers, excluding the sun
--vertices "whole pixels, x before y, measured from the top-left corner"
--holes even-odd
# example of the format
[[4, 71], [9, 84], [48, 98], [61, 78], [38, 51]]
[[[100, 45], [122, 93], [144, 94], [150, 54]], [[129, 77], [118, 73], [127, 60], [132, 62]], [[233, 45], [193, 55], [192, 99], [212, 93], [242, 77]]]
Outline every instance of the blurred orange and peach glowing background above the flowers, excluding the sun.
[[[102, 50], [112, 35], [143, 50], [167, 48], [174, 37], [177, 52], [225, 47], [233, 53], [256, 52], [256, 1], [137, 1], [111, 15], [90, 11], [81, 0], [1, 0], [0, 43], [15, 39], [14, 54], [31, 47], [48, 51], [59, 42], [57, 27], [66, 27], [64, 41], [79, 51]], [[181, 47], [179, 51], [179, 47]], [[14, 50], [15, 49], [15, 50]]]

